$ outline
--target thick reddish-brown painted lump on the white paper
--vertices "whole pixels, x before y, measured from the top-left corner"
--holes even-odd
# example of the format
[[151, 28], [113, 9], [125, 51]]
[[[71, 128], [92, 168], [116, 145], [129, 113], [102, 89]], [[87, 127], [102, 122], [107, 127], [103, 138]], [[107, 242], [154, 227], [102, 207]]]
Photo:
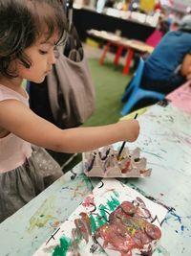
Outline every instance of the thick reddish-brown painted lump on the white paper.
[[109, 223], [96, 230], [96, 239], [102, 238], [103, 248], [118, 251], [121, 256], [132, 256], [133, 249], [151, 255], [152, 242], [159, 240], [161, 232], [148, 219], [151, 214], [140, 198], [134, 203], [123, 201], [110, 215]]

